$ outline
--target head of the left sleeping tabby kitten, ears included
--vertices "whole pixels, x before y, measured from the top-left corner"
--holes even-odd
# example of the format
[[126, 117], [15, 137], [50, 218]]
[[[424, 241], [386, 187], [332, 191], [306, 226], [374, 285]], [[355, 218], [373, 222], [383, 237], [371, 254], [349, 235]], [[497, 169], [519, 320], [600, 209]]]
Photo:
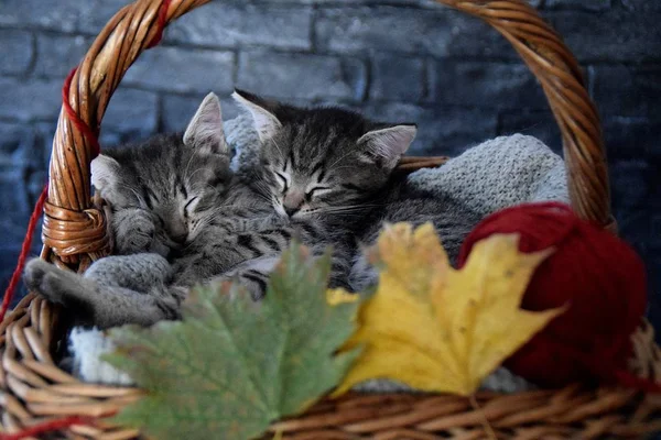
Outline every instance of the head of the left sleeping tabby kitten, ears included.
[[229, 161], [214, 94], [204, 99], [183, 136], [161, 134], [96, 157], [91, 184], [111, 207], [115, 253], [167, 256], [194, 241], [226, 198]]

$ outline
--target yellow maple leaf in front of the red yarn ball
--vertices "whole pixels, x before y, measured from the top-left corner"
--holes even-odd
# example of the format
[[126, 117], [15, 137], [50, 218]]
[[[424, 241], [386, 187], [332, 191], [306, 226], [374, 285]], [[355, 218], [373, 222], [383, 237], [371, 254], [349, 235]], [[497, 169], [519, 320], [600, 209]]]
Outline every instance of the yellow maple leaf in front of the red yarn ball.
[[448, 263], [432, 224], [387, 227], [375, 249], [381, 274], [343, 350], [362, 353], [335, 395], [370, 378], [472, 395], [481, 381], [564, 308], [520, 309], [551, 250], [523, 254], [518, 234], [475, 244], [466, 265]]

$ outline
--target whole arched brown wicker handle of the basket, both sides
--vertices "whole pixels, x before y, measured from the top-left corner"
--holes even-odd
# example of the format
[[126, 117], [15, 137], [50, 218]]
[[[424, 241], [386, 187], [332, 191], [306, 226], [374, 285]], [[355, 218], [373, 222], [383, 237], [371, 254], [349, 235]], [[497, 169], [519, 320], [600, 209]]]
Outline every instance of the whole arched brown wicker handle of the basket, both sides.
[[[209, 1], [171, 0], [165, 23]], [[599, 118], [576, 59], [561, 37], [522, 0], [437, 1], [481, 18], [514, 46], [542, 84], [562, 131], [574, 209], [585, 219], [611, 224]], [[122, 8], [99, 33], [73, 76], [64, 98], [93, 131], [100, 127], [124, 73], [156, 35], [161, 4], [162, 0], [138, 0]], [[74, 123], [63, 108], [53, 139], [42, 256], [78, 271], [109, 252], [104, 209], [90, 198], [89, 163], [94, 154], [80, 124]], [[410, 168], [411, 163], [404, 161], [402, 169]], [[422, 161], [419, 165], [437, 163]]]

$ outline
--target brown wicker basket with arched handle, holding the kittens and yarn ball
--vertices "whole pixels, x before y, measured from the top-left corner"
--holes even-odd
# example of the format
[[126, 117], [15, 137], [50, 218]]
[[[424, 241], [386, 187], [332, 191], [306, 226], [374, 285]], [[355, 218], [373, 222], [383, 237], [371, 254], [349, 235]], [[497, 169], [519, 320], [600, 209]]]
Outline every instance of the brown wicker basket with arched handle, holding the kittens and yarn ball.
[[[159, 12], [170, 23], [209, 0], [139, 0], [105, 26], [79, 65], [64, 99], [53, 142], [42, 257], [85, 271], [109, 253], [104, 210], [90, 198], [89, 162], [95, 145], [85, 124], [98, 128], [112, 92], [136, 58], [160, 34]], [[609, 211], [599, 120], [576, 61], [560, 36], [522, 0], [441, 0], [481, 18], [514, 46], [541, 82], [563, 134], [571, 200], [583, 217], [615, 230]], [[163, 24], [163, 21], [161, 21]], [[74, 114], [75, 113], [75, 114]], [[76, 119], [78, 119], [76, 121]], [[80, 121], [84, 122], [80, 123]], [[413, 169], [435, 161], [404, 161]], [[104, 417], [140, 397], [139, 389], [84, 384], [61, 371], [52, 354], [62, 331], [59, 314], [30, 294], [0, 323], [1, 428], [14, 432], [63, 416]], [[661, 352], [642, 323], [632, 371], [661, 380]], [[661, 396], [619, 389], [560, 391], [518, 395], [479, 394], [481, 410], [448, 395], [349, 395], [324, 400], [305, 415], [272, 427], [292, 439], [479, 439], [486, 418], [502, 439], [640, 438], [661, 430]], [[67, 439], [131, 439], [134, 429], [104, 422], [74, 425]], [[0, 435], [1, 436], [1, 435]]]

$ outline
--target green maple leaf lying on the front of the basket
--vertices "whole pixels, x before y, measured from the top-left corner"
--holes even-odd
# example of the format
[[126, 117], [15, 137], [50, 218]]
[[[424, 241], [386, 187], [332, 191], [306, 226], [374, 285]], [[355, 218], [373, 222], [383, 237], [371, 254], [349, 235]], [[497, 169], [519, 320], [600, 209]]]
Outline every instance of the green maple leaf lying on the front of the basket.
[[357, 355], [335, 355], [357, 302], [328, 305], [329, 267], [294, 244], [259, 304], [236, 286], [198, 287], [183, 321], [113, 330], [118, 351], [105, 360], [147, 393], [113, 421], [158, 439], [243, 440], [312, 405]]

